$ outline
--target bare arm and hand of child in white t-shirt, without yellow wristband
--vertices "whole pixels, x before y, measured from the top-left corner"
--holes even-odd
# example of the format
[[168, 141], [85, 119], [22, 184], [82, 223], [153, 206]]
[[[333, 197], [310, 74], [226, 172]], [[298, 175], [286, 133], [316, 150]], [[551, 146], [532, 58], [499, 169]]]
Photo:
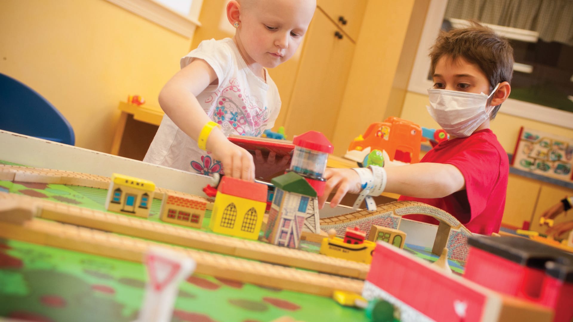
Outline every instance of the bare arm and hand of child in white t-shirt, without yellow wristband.
[[[195, 141], [205, 124], [210, 121], [197, 101], [197, 96], [217, 81], [213, 68], [206, 61], [195, 59], [179, 70], [159, 93], [159, 104], [163, 111]], [[229, 142], [219, 128], [211, 131], [206, 147], [214, 159], [221, 161], [226, 175], [254, 180], [253, 156], [244, 148]]]

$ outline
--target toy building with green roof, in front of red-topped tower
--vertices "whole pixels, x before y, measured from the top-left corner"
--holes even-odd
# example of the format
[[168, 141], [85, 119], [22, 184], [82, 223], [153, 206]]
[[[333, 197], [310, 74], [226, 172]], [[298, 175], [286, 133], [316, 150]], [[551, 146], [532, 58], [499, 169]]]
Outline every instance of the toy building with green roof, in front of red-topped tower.
[[265, 238], [270, 244], [299, 248], [303, 230], [320, 229], [316, 191], [295, 172], [273, 178], [276, 187], [266, 225]]

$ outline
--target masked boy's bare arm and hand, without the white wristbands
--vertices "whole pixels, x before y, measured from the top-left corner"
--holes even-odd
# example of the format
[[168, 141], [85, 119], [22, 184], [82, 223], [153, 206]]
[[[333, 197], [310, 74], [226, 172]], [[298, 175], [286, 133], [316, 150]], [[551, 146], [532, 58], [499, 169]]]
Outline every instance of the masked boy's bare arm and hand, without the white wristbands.
[[[465, 189], [465, 179], [460, 170], [452, 164], [415, 163], [406, 166], [386, 167], [386, 189], [388, 193], [407, 195], [416, 198], [442, 198]], [[337, 206], [347, 193], [360, 193], [360, 177], [352, 169], [325, 171], [327, 179], [324, 194], [319, 197], [319, 209], [332, 190], [336, 194], [331, 207]]]

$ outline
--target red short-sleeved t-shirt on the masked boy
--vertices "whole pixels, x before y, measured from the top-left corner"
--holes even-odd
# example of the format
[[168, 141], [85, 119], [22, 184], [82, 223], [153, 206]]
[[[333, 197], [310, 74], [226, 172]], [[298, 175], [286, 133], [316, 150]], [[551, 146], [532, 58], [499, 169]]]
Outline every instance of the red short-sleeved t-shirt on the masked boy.
[[[507, 153], [490, 129], [474, 132], [468, 138], [456, 138], [439, 143], [420, 160], [452, 164], [465, 178], [465, 190], [444, 198], [412, 198], [398, 200], [420, 201], [448, 211], [470, 231], [489, 235], [497, 233], [505, 207], [509, 174]], [[438, 224], [425, 215], [408, 215], [408, 219]]]

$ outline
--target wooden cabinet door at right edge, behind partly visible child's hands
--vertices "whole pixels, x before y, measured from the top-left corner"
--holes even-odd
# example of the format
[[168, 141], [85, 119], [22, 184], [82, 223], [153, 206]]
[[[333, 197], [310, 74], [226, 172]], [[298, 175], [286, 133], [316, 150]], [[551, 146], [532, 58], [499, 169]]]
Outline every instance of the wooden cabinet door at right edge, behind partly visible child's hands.
[[[573, 190], [554, 186], [552, 184], [543, 184], [543, 186], [541, 186], [539, 199], [537, 199], [537, 206], [535, 207], [533, 220], [531, 222], [531, 226], [529, 226], [529, 229], [539, 231], [540, 233], [545, 233], [545, 231], [547, 231], [547, 226], [539, 225], [539, 218], [541, 217], [541, 214], [543, 214], [543, 211], [547, 210], [549, 207], [555, 205], [561, 199], [569, 195], [573, 195]], [[566, 214], [560, 214], [555, 218], [555, 224], [566, 221], [573, 221], [573, 210], [569, 210]]]

